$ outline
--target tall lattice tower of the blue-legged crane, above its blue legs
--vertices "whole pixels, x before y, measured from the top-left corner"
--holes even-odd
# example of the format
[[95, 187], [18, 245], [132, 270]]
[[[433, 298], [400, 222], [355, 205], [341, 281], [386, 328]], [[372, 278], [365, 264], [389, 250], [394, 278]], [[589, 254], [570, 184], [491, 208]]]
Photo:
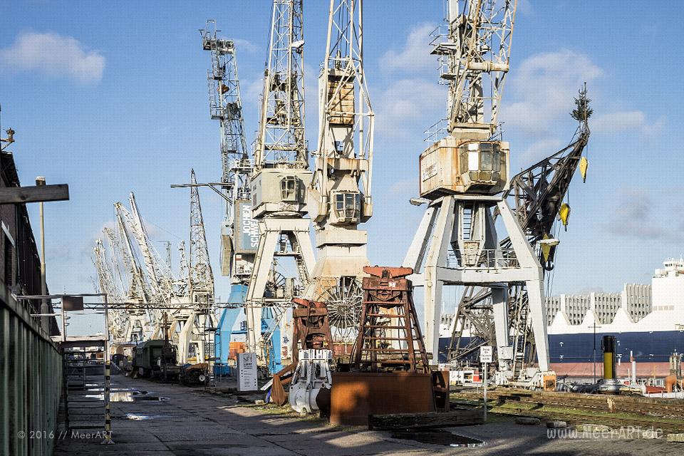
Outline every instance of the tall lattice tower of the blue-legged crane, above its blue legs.
[[209, 113], [212, 119], [219, 120], [221, 183], [227, 197], [221, 233], [221, 273], [231, 276], [232, 284], [245, 284], [254, 266], [256, 245], [243, 246], [241, 235], [247, 229], [256, 238], [259, 231], [250, 214], [253, 165], [244, 135], [235, 43], [218, 38], [217, 32], [214, 20], [207, 21], [206, 28], [200, 30], [202, 48], [212, 56], [212, 68], [207, 71]]

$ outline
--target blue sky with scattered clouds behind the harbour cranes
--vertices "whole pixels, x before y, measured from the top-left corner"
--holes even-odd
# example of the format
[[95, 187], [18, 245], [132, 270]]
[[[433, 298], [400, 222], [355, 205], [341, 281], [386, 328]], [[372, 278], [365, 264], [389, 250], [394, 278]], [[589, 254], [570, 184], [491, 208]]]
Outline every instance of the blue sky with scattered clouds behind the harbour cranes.
[[[512, 71], [500, 120], [514, 170], [550, 155], [574, 133], [568, 113], [581, 83], [594, 100], [589, 178], [571, 187], [555, 293], [618, 291], [648, 282], [665, 257], [684, 252], [684, 16], [680, 2], [519, 0]], [[316, 144], [316, 76], [323, 58], [326, 0], [305, 2], [307, 136]], [[92, 290], [90, 252], [112, 203], [135, 192], [158, 241], [188, 236], [187, 182], [220, 177], [218, 125], [209, 119], [197, 29], [217, 19], [237, 41], [248, 143], [257, 127], [270, 1], [12, 1], [0, 28], [2, 127], [16, 130], [19, 175], [66, 182], [70, 202], [46, 204], [48, 285]], [[427, 53], [442, 0], [368, 0], [366, 73], [375, 108], [368, 256], [399, 264], [423, 208], [417, 192], [423, 130], [444, 115], [445, 92]], [[204, 192], [217, 295], [222, 202]], [[30, 212], [37, 227], [37, 207]], [[163, 244], [157, 248], [162, 249]], [[175, 256], [175, 250], [174, 250]], [[175, 261], [177, 257], [175, 256]]]

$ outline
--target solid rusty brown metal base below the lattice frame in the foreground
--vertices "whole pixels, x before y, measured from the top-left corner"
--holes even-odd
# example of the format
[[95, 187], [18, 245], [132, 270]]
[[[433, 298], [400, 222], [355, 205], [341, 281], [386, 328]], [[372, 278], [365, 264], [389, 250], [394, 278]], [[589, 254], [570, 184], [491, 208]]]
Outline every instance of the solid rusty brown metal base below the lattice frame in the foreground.
[[434, 411], [430, 373], [333, 373], [331, 424], [368, 425], [368, 415]]

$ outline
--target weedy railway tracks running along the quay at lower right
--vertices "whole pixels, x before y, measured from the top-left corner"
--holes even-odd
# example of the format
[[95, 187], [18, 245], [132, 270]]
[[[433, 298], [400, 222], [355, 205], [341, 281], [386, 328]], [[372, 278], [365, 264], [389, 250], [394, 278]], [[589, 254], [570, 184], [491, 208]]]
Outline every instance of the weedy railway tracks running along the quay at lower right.
[[[452, 393], [453, 400], [482, 405], [480, 391]], [[684, 401], [636, 396], [546, 393], [526, 390], [488, 391], [492, 413], [563, 420], [569, 424], [594, 423], [610, 427], [655, 427], [684, 431]]]

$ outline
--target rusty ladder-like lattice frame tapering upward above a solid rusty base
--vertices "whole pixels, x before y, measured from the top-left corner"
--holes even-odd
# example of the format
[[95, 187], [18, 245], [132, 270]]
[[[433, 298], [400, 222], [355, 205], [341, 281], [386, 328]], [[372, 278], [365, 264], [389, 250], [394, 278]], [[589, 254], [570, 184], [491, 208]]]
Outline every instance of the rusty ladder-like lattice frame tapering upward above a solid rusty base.
[[413, 305], [411, 268], [365, 266], [361, 324], [351, 360], [367, 372], [430, 371]]

